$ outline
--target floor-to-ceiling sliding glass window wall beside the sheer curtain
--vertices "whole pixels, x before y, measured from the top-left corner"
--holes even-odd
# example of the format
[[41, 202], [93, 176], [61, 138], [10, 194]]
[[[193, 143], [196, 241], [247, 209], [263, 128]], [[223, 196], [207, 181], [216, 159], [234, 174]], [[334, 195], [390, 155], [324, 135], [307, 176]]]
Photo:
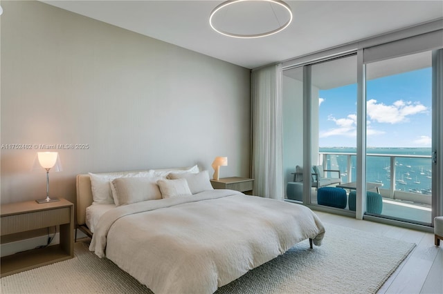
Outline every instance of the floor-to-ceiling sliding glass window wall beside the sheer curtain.
[[[325, 53], [329, 57], [315, 54], [311, 61], [296, 60], [297, 68], [284, 67], [284, 89], [294, 84], [291, 71], [302, 86], [284, 105], [284, 115], [296, 113], [303, 124], [294, 128], [294, 118], [284, 117], [284, 165], [291, 167], [284, 170], [285, 186], [296, 182], [293, 173], [300, 166], [304, 177], [298, 181], [305, 185], [298, 200], [409, 226], [430, 226], [441, 215], [442, 34], [441, 28], [400, 40], [393, 34], [390, 42], [383, 37], [374, 46], [377, 41], [370, 40], [368, 47], [359, 43], [359, 50], [345, 46], [346, 53], [334, 49]], [[341, 184], [315, 186], [313, 166], [325, 178], [337, 177], [325, 170], [338, 170]], [[321, 186], [345, 186], [346, 205], [319, 204]]]

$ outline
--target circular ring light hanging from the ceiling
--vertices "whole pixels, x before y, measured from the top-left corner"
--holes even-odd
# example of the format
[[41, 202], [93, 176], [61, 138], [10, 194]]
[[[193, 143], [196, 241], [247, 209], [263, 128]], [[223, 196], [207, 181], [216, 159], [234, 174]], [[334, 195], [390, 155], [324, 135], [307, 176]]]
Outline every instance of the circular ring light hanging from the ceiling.
[[225, 1], [209, 17], [216, 32], [245, 39], [273, 35], [287, 28], [291, 21], [291, 8], [278, 0]]

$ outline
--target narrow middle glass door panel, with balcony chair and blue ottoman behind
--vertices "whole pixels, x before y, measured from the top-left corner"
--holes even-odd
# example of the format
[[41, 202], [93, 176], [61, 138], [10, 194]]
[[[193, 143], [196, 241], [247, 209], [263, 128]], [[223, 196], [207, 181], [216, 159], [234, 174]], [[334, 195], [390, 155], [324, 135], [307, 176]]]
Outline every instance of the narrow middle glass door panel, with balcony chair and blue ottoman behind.
[[311, 66], [312, 204], [349, 209], [350, 190], [321, 188], [356, 181], [356, 86], [356, 55]]

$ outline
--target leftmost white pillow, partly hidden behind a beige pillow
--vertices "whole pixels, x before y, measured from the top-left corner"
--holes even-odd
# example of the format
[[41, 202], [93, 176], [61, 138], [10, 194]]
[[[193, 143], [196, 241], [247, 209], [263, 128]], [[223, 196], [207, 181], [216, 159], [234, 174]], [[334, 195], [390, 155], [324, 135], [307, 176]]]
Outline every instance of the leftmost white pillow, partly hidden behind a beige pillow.
[[89, 173], [93, 199], [92, 204], [114, 204], [109, 181], [118, 177], [154, 177], [154, 173], [151, 170], [109, 174]]

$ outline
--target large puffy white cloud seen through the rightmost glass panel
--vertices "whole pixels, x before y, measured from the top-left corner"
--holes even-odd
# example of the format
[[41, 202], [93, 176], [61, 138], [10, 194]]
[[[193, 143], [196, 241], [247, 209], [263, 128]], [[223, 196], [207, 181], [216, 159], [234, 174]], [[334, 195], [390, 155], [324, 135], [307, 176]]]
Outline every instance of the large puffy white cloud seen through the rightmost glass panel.
[[420, 102], [410, 102], [398, 100], [392, 105], [377, 103], [377, 100], [370, 99], [366, 106], [368, 117], [380, 123], [397, 124], [408, 121], [409, 115], [426, 112], [428, 108]]

